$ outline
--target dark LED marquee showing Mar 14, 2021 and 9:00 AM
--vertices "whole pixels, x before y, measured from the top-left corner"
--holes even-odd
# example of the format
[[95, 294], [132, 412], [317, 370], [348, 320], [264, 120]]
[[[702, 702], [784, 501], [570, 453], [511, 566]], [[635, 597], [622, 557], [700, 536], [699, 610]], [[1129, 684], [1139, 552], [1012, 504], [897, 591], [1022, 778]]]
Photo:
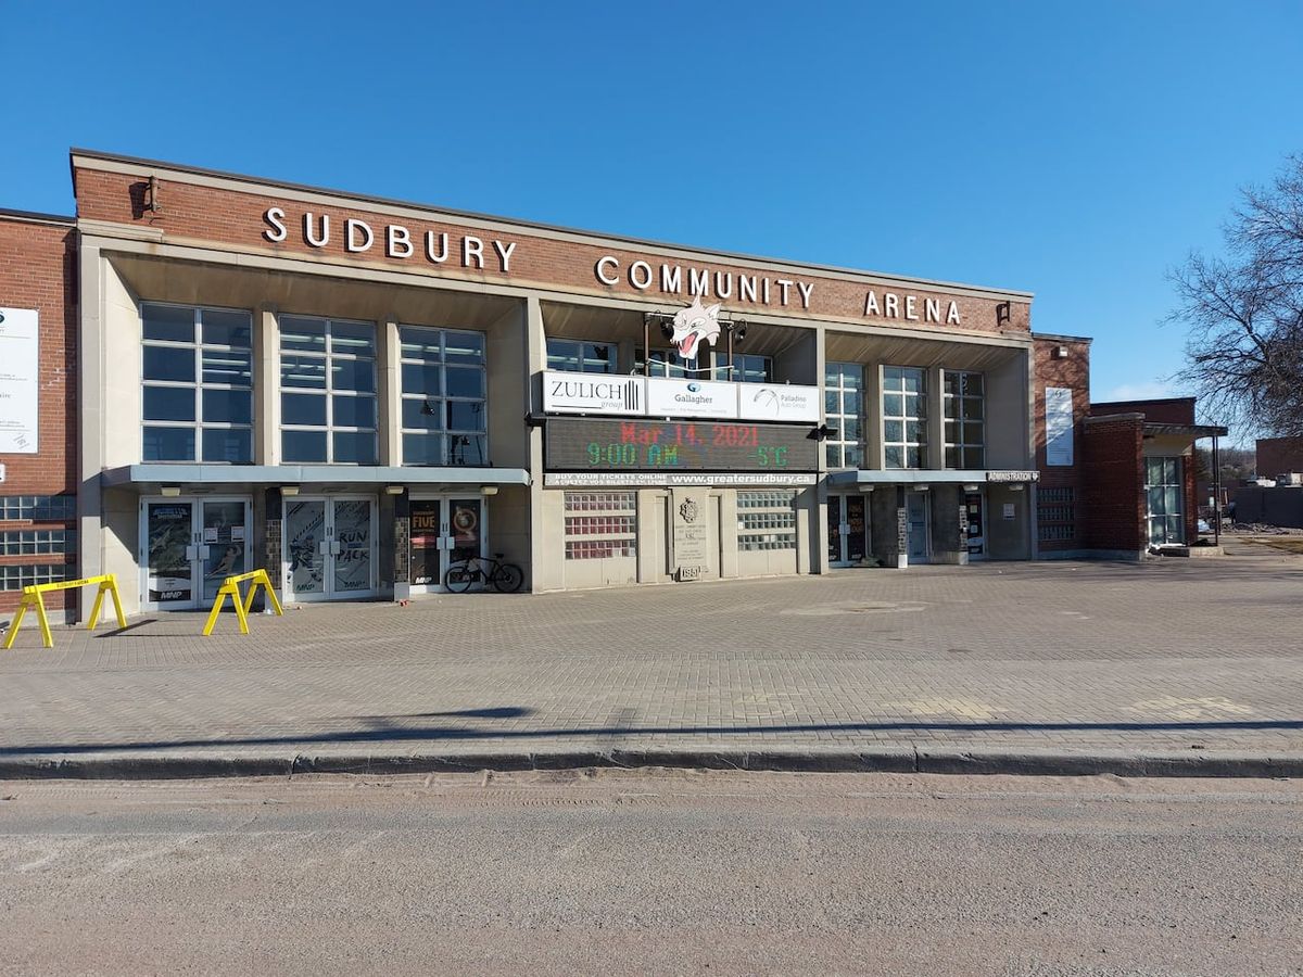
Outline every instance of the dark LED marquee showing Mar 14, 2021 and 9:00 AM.
[[732, 421], [551, 418], [552, 472], [814, 472], [809, 429]]

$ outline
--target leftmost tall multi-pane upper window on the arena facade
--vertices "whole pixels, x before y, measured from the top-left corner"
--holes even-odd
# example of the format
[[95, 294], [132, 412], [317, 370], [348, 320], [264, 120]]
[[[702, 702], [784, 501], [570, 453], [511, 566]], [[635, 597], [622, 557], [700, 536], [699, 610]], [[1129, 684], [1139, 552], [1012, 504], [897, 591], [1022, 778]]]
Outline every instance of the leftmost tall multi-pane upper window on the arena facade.
[[141, 305], [141, 460], [253, 461], [253, 315]]

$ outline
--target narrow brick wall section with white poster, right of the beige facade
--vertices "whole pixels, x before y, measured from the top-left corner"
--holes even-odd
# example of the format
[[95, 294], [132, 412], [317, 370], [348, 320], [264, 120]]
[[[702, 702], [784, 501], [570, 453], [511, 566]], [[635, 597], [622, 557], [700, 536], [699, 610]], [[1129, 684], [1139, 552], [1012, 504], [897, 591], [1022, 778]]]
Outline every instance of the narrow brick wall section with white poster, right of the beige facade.
[[[1057, 350], [1067, 352], [1059, 358]], [[1032, 343], [1032, 362], [1035, 370], [1035, 423], [1036, 423], [1036, 468], [1041, 473], [1040, 488], [1052, 490], [1044, 492], [1046, 499], [1063, 496], [1063, 492], [1054, 490], [1068, 490], [1072, 502], [1055, 502], [1053, 509], [1059, 515], [1065, 505], [1072, 507], [1072, 522], [1059, 522], [1061, 526], [1071, 526], [1072, 537], [1066, 539], [1041, 539], [1037, 546], [1041, 552], [1055, 552], [1083, 548], [1087, 538], [1085, 509], [1083, 507], [1083, 474], [1084, 474], [1084, 444], [1083, 422], [1091, 408], [1091, 343], [1081, 339], [1065, 339], [1058, 336], [1036, 336]], [[1045, 461], [1045, 388], [1066, 387], [1072, 391], [1072, 464], [1048, 465]], [[1052, 524], [1046, 522], [1045, 529], [1050, 530]], [[1055, 534], [1058, 534], [1055, 531]]]

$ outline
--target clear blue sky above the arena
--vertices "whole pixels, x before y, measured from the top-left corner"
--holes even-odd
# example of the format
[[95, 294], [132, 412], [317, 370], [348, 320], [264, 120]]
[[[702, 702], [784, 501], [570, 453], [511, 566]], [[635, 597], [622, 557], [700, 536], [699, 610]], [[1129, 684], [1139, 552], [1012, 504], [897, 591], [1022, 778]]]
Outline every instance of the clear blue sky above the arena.
[[69, 146], [1036, 293], [1177, 393], [1165, 271], [1303, 152], [1303, 4], [10, 1], [0, 207]]

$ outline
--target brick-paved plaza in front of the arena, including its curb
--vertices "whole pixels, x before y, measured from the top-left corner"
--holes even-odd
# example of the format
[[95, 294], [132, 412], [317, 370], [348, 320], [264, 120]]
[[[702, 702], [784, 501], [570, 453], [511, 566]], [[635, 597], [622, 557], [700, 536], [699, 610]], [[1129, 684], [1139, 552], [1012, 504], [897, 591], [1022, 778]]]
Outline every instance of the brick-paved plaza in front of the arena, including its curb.
[[23, 629], [0, 776], [687, 765], [1303, 775], [1303, 556]]

